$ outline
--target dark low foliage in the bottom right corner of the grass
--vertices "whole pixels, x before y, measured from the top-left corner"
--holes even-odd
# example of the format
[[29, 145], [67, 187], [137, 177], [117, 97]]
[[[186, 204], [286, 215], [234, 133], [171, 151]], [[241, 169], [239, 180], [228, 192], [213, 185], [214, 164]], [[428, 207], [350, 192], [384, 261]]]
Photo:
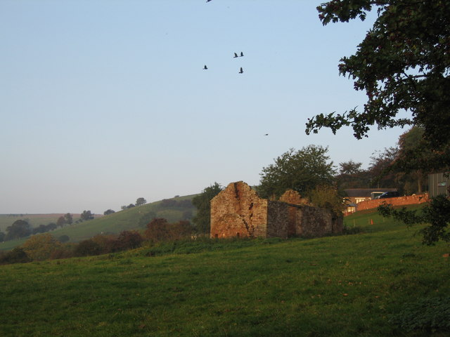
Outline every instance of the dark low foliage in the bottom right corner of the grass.
[[421, 298], [404, 305], [390, 322], [406, 331], [450, 331], [450, 297]]

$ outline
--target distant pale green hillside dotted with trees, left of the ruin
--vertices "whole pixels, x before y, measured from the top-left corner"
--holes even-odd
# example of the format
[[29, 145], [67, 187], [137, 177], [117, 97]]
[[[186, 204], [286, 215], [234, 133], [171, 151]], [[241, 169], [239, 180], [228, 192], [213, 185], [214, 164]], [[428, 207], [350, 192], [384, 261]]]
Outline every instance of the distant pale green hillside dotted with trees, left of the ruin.
[[[108, 216], [101, 216], [94, 220], [67, 225], [49, 233], [56, 238], [61, 235], [68, 235], [68, 237], [70, 237], [70, 242], [79, 242], [83, 239], [89, 239], [96, 234], [120, 233], [123, 230], [143, 228], [144, 225], [142, 223], [140, 225], [140, 220], [149, 214], [150, 217], [166, 218], [169, 223], [176, 222], [186, 217], [185, 212], [191, 211], [191, 215], [195, 215], [195, 207], [184, 206], [182, 202], [180, 203], [180, 201], [192, 200], [195, 195], [197, 194], [155, 201], [150, 204], [118, 211]], [[181, 206], [179, 204], [181, 204]], [[24, 217], [27, 218], [27, 215], [24, 215]], [[18, 218], [14, 218], [13, 221], [15, 220], [18, 220]], [[25, 241], [26, 238], [0, 243], [0, 250], [13, 249], [15, 246], [19, 246]]]

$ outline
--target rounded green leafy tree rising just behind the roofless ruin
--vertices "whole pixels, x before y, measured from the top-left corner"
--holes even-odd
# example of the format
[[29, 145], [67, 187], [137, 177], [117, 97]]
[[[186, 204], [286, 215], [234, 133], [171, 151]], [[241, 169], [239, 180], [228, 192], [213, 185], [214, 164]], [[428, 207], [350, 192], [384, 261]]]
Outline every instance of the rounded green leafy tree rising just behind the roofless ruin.
[[264, 167], [259, 173], [262, 178], [257, 187], [258, 194], [263, 198], [277, 199], [288, 189], [305, 194], [317, 185], [329, 185], [335, 169], [327, 152], [328, 147], [316, 145], [284, 152], [274, 159], [275, 164]]

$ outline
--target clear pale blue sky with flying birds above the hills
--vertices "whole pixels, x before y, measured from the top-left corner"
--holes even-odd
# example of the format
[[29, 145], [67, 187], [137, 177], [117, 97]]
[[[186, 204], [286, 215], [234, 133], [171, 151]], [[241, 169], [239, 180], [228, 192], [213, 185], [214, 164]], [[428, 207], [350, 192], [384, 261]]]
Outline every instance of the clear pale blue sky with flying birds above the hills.
[[365, 103], [338, 63], [373, 17], [323, 26], [321, 2], [1, 0], [0, 213], [103, 214], [257, 185], [311, 144], [367, 168], [406, 130], [304, 132]]

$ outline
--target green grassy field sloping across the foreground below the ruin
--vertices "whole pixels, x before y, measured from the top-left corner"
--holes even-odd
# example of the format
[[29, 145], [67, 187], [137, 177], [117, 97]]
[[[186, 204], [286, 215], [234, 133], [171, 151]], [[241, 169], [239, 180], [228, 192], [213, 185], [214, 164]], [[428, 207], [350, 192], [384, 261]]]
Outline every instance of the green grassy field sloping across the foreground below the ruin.
[[423, 246], [371, 213], [353, 220], [363, 233], [0, 266], [0, 335], [447, 336], [406, 333], [389, 317], [450, 296], [449, 246]]

